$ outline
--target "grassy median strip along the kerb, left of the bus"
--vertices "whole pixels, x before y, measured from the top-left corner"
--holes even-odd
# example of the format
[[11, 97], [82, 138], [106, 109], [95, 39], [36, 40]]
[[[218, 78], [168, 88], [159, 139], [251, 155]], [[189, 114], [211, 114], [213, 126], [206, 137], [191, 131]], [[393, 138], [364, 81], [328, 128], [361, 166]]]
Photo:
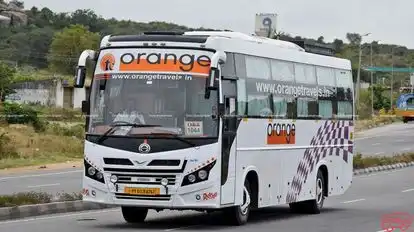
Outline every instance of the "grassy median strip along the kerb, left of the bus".
[[42, 192], [24, 192], [0, 196], [0, 208], [76, 200], [82, 200], [80, 193], [52, 195]]

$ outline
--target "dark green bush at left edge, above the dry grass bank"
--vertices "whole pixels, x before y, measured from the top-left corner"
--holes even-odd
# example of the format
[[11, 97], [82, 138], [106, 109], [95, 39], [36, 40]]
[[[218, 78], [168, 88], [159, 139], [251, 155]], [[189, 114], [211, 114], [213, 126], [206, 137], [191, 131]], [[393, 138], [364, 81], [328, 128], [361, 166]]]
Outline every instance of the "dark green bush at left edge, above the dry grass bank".
[[9, 124], [31, 124], [38, 132], [46, 129], [46, 123], [38, 117], [39, 112], [30, 106], [4, 103], [3, 115]]

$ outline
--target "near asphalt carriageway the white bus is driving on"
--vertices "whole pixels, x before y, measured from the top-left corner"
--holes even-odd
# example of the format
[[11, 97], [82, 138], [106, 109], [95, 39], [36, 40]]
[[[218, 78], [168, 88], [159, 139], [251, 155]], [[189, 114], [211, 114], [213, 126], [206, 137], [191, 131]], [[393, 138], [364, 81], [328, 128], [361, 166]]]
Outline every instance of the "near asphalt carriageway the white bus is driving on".
[[[224, 225], [220, 214], [150, 211], [147, 223], [129, 225], [119, 209], [59, 214], [0, 222], [0, 231], [124, 232], [236, 231], [237, 232], [379, 232], [384, 214], [414, 216], [414, 168], [354, 178], [346, 194], [329, 198], [319, 215], [290, 214], [287, 206], [260, 210], [242, 227]], [[414, 232], [414, 225], [408, 231]], [[408, 232], [407, 231], [407, 232]]]

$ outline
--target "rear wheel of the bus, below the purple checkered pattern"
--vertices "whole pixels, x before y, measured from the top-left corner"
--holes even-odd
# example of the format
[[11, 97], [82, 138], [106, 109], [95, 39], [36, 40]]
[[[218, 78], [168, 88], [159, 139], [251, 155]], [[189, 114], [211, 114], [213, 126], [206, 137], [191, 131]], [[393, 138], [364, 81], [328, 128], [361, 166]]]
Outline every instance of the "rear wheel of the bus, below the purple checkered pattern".
[[320, 214], [325, 202], [325, 188], [326, 182], [323, 177], [322, 171], [318, 170], [316, 175], [316, 194], [314, 200], [290, 203], [290, 210], [293, 213], [307, 213], [307, 214]]

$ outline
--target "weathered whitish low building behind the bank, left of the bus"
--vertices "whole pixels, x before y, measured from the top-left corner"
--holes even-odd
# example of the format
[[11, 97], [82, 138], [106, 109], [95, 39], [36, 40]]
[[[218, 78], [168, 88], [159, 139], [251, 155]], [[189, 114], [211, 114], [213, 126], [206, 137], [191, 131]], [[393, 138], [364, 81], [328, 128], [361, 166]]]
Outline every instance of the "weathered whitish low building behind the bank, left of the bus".
[[73, 88], [62, 79], [49, 79], [16, 83], [11, 86], [15, 91], [6, 101], [20, 104], [40, 104], [51, 107], [81, 108], [82, 101], [89, 96], [89, 83], [85, 88]]

